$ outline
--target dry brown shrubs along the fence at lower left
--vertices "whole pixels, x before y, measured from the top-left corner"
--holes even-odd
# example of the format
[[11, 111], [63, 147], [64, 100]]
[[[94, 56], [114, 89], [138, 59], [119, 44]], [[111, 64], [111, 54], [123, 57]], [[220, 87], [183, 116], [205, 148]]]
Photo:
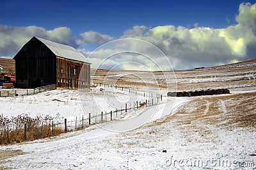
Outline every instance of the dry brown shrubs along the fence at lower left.
[[[4, 117], [0, 115], [0, 144], [12, 144], [25, 141], [34, 141], [45, 137], [51, 137], [64, 133], [63, 128], [53, 125], [51, 116], [36, 116], [30, 118], [28, 114], [20, 114], [17, 117]], [[56, 121], [58, 122], [58, 121]]]

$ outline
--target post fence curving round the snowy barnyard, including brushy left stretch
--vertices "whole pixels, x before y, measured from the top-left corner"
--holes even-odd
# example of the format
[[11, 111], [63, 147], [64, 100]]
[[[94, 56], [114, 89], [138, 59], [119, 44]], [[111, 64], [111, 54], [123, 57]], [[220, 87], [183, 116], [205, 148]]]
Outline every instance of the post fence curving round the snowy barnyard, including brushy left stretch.
[[[162, 101], [162, 95], [159, 93], [145, 93], [131, 88], [114, 86], [113, 84], [93, 84], [93, 86], [94, 88], [99, 86], [100, 90], [104, 90], [103, 88], [108, 86], [108, 88], [126, 91], [133, 95], [140, 95], [143, 98], [141, 100], [127, 102], [123, 106], [116, 107], [111, 111], [88, 112], [82, 116], [72, 118], [63, 118], [60, 114], [56, 117], [36, 116], [36, 118], [30, 118], [28, 114], [20, 114], [17, 117], [8, 118], [2, 114], [0, 115], [0, 144], [33, 141], [63, 132], [78, 130], [94, 125], [95, 123], [115, 121], [120, 119], [123, 114], [129, 114], [129, 112], [136, 111], [142, 107], [157, 105]], [[51, 89], [56, 89], [56, 86], [49, 85], [36, 89], [28, 89], [27, 95], [33, 95]]]

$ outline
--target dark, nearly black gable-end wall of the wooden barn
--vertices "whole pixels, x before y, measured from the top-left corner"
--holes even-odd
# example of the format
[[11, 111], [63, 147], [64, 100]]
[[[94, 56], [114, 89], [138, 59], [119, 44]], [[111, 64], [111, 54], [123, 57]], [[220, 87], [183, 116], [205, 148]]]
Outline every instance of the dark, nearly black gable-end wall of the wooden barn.
[[15, 73], [18, 88], [56, 84], [56, 56], [32, 38], [15, 56]]

